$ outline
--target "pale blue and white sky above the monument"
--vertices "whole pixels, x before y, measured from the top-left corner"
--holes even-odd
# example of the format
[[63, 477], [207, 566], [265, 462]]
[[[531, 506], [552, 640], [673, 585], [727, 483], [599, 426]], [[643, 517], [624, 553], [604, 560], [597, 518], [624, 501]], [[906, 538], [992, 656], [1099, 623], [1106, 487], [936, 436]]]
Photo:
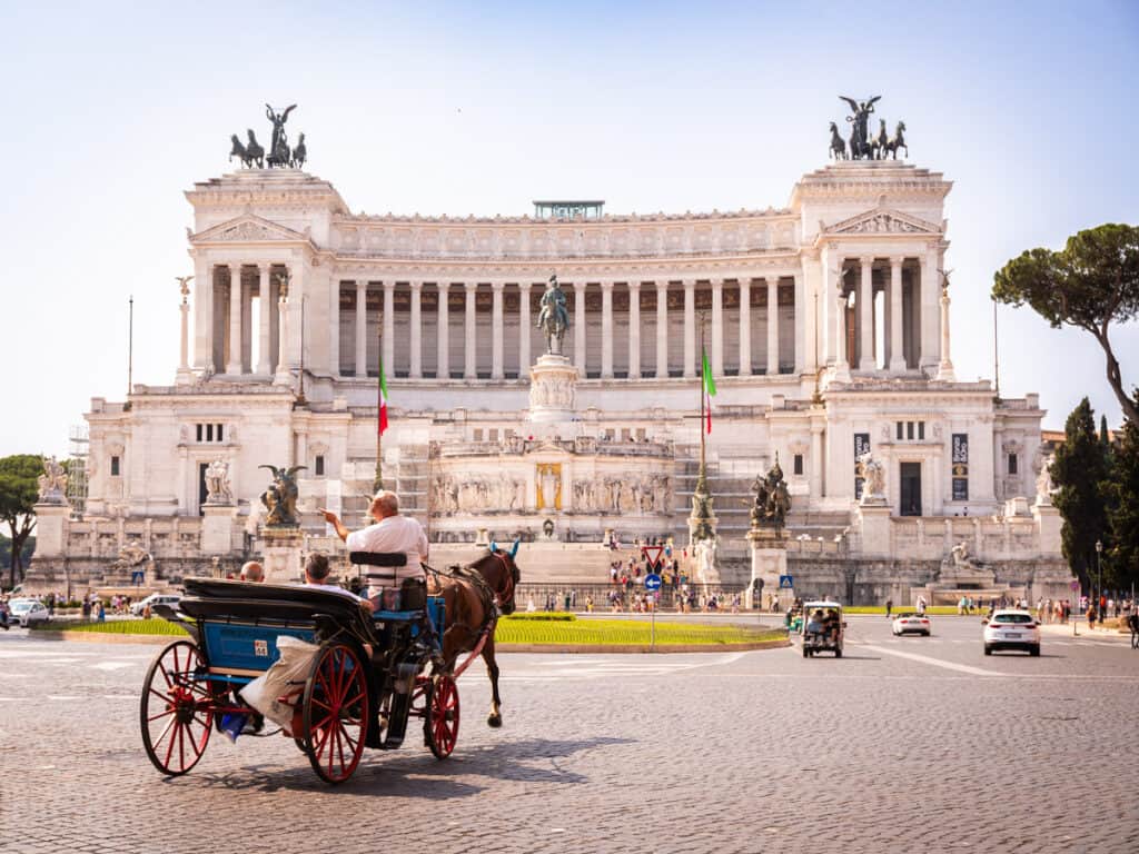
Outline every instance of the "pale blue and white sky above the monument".
[[[182, 197], [298, 104], [309, 167], [354, 211], [523, 214], [780, 207], [826, 164], [838, 95], [882, 95], [910, 162], [954, 182], [953, 360], [993, 375], [993, 272], [1080, 229], [1139, 222], [1139, 3], [85, 5], [0, 1], [0, 455], [65, 453], [92, 396], [169, 384]], [[1083, 332], [1000, 310], [1006, 395], [1046, 426], [1088, 395]], [[1139, 327], [1116, 328], [1139, 384]]]

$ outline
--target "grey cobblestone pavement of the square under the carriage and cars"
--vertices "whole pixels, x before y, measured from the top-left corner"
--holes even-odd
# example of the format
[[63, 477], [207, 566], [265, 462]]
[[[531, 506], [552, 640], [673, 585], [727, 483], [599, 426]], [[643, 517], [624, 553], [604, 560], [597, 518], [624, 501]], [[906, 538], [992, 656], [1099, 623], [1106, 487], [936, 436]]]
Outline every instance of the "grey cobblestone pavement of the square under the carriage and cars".
[[146, 759], [155, 647], [0, 634], [0, 849], [1133, 852], [1139, 651], [1049, 633], [984, 657], [850, 619], [846, 656], [506, 655], [505, 725], [461, 681], [459, 747], [368, 752], [330, 789], [290, 740]]

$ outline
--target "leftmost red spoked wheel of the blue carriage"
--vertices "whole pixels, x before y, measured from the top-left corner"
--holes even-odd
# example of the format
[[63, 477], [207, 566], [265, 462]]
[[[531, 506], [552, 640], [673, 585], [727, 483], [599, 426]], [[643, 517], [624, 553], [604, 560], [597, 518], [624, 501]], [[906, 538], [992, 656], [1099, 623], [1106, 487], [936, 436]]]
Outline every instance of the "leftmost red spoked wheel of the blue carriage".
[[147, 671], [139, 704], [142, 746], [154, 766], [171, 777], [194, 767], [210, 741], [214, 717], [211, 683], [196, 679], [205, 667], [190, 641], [174, 641]]

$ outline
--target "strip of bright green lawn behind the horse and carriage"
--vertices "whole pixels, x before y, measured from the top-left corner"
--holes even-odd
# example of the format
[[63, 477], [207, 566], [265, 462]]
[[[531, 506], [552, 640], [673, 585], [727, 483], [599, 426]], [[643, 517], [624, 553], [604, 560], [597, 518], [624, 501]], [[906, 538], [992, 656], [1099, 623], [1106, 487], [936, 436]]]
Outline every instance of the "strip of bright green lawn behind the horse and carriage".
[[[165, 619], [122, 619], [108, 623], [49, 623], [35, 631], [91, 632], [99, 634], [159, 634], [181, 637], [186, 632]], [[754, 643], [780, 640], [781, 630], [745, 629], [658, 622], [657, 643], [689, 643], [720, 646], [723, 643]], [[595, 646], [638, 644], [649, 642], [649, 621], [626, 619], [514, 619], [499, 621], [495, 639], [499, 644], [510, 643], [575, 643]]]

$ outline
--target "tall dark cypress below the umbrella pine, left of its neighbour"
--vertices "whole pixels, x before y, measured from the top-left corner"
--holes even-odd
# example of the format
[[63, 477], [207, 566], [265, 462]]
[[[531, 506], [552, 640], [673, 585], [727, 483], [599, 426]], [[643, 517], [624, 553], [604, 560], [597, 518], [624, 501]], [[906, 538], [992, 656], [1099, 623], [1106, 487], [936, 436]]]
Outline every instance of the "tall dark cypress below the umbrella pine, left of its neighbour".
[[1107, 533], [1101, 493], [1107, 465], [1087, 397], [1072, 410], [1064, 425], [1064, 444], [1056, 449], [1051, 474], [1057, 487], [1056, 509], [1064, 517], [1060, 529], [1064, 558], [1087, 584], [1097, 577], [1096, 542], [1104, 541]]

